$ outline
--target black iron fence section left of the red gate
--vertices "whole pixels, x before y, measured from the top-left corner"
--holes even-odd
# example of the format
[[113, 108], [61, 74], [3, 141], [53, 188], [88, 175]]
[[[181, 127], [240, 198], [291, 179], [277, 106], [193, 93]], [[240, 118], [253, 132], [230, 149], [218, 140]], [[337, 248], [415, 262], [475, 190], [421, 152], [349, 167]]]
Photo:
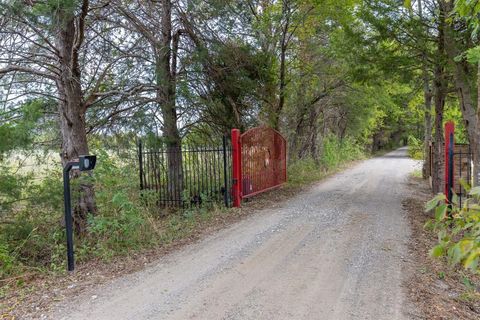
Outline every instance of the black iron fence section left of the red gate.
[[161, 207], [188, 208], [207, 202], [231, 203], [230, 140], [214, 146], [138, 143], [140, 189], [156, 194]]

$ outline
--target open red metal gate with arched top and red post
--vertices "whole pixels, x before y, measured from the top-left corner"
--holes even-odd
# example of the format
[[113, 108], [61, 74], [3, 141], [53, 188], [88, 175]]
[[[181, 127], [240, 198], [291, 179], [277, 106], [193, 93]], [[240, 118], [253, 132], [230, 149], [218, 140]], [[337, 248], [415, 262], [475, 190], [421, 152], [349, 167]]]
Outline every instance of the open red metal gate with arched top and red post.
[[281, 186], [287, 181], [287, 143], [276, 130], [267, 127], [250, 129], [240, 135], [232, 130], [233, 204], [242, 198]]

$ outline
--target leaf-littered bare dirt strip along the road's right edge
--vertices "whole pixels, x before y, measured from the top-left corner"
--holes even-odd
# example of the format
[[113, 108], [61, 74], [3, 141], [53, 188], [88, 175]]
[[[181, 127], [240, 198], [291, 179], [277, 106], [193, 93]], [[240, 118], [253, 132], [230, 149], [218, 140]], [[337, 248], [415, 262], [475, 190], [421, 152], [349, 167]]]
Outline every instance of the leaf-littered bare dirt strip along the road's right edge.
[[420, 178], [411, 177], [409, 186], [411, 196], [403, 206], [412, 230], [409, 249], [413, 261], [406, 284], [410, 301], [423, 312], [421, 319], [480, 319], [480, 277], [429, 256], [436, 235], [424, 229], [432, 218], [424, 207], [433, 195]]

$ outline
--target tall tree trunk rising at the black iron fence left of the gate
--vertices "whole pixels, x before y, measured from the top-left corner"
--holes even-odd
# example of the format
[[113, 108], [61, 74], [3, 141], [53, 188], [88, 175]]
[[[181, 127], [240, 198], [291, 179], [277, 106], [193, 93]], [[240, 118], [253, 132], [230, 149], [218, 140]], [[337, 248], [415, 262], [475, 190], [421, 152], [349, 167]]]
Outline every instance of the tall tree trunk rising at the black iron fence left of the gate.
[[[163, 117], [163, 137], [167, 146], [168, 193], [170, 200], [180, 200], [183, 193], [182, 143], [177, 127], [176, 57], [172, 59], [172, 2], [162, 0], [161, 45], [156, 48], [157, 101]], [[173, 60], [173, 62], [171, 62]], [[175, 65], [174, 65], [175, 64]]]

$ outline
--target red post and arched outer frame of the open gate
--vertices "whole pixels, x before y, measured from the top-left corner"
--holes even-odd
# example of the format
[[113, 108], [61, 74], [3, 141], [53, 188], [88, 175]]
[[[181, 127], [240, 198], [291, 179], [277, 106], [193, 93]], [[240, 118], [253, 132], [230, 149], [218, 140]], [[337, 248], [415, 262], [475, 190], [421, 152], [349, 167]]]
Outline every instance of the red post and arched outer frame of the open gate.
[[[257, 127], [257, 128], [262, 128], [262, 127]], [[254, 130], [257, 128], [252, 128], [250, 130]], [[269, 130], [273, 130], [275, 133], [280, 135], [282, 139], [285, 141], [285, 148], [287, 148], [286, 140], [283, 137], [283, 135], [278, 132], [277, 130], [273, 128], [266, 127]], [[248, 131], [250, 131], [248, 130]], [[248, 132], [246, 131], [246, 132]], [[245, 133], [246, 133], [245, 132]], [[231, 131], [231, 139], [232, 139], [232, 197], [233, 197], [233, 207], [234, 208], [240, 208], [242, 205], [242, 199], [247, 199], [250, 197], [253, 197], [255, 195], [258, 195], [263, 192], [267, 192], [273, 189], [276, 189], [280, 186], [282, 186], [286, 181], [287, 181], [287, 150], [285, 150], [285, 163], [284, 163], [284, 171], [285, 171], [285, 182], [278, 184], [276, 186], [268, 187], [266, 189], [260, 190], [253, 192], [251, 194], [248, 194], [246, 196], [243, 195], [243, 179], [242, 179], [242, 136], [245, 134], [241, 134], [239, 129], [232, 129]]]

